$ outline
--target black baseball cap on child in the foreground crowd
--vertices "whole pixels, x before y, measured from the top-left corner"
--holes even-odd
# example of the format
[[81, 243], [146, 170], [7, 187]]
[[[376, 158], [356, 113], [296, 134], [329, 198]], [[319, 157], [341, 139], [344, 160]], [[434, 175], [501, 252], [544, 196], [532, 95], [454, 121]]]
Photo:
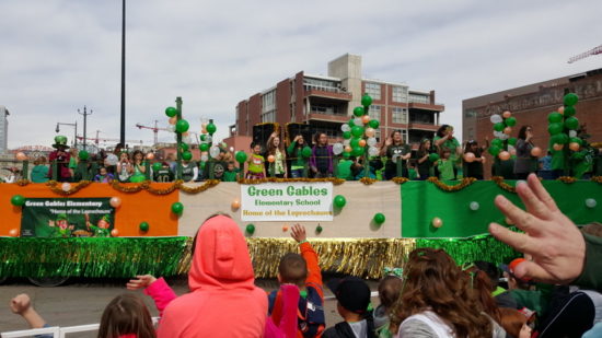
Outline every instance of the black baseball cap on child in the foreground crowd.
[[364, 314], [370, 305], [370, 288], [360, 278], [335, 278], [326, 282], [326, 285], [336, 296], [338, 303], [346, 310]]

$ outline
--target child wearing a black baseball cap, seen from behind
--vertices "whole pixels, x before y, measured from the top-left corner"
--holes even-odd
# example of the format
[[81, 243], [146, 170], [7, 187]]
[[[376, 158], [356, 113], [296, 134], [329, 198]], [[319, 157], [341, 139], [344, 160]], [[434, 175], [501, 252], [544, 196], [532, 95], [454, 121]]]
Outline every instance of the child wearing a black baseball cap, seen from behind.
[[370, 288], [357, 277], [333, 279], [328, 289], [336, 296], [336, 310], [344, 322], [324, 331], [324, 338], [375, 338], [374, 325], [368, 314]]

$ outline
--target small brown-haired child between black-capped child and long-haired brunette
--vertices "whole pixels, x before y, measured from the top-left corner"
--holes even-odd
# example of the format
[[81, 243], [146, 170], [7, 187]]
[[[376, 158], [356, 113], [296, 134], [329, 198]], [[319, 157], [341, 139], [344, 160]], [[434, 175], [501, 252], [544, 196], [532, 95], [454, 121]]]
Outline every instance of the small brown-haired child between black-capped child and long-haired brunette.
[[392, 338], [395, 331], [390, 330], [391, 308], [402, 293], [402, 278], [396, 275], [385, 276], [379, 283], [380, 305], [374, 310], [374, 328], [379, 338]]

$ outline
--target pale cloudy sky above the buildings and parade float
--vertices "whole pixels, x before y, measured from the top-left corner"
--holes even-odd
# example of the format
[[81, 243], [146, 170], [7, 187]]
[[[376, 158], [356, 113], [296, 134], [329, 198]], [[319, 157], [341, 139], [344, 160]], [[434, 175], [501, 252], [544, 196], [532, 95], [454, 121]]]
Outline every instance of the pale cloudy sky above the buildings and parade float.
[[[119, 136], [120, 3], [0, 1], [9, 148], [50, 144], [57, 121], [82, 125], [83, 105], [89, 135]], [[238, 102], [300, 70], [326, 74], [346, 53], [362, 56], [366, 78], [436, 90], [456, 130], [464, 98], [602, 68], [602, 56], [567, 63], [602, 44], [599, 0], [128, 0], [127, 11], [127, 138], [148, 142], [135, 125], [166, 126], [176, 96], [192, 130], [213, 118], [222, 138]]]

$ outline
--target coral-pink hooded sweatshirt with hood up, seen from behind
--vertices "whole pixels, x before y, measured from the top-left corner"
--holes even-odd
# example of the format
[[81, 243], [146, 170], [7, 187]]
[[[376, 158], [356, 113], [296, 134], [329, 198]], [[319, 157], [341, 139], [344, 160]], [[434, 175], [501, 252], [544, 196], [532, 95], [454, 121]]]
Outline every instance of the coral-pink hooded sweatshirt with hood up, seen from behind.
[[251, 256], [236, 223], [205, 222], [196, 238], [188, 287], [163, 313], [158, 337], [262, 337], [267, 296], [255, 287]]

